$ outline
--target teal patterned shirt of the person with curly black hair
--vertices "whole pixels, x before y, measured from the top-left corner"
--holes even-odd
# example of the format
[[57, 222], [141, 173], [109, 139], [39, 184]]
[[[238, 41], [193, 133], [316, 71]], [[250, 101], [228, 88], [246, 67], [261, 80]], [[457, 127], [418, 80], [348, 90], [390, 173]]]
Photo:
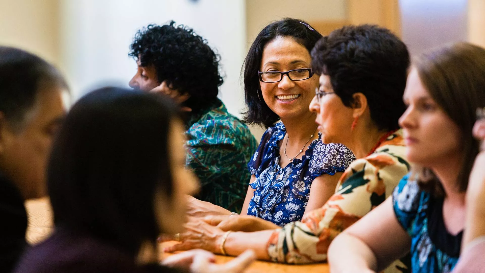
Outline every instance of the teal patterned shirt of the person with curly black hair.
[[186, 166], [199, 178], [198, 198], [241, 212], [251, 178], [247, 163], [257, 148], [249, 128], [220, 100], [193, 114], [186, 126]]

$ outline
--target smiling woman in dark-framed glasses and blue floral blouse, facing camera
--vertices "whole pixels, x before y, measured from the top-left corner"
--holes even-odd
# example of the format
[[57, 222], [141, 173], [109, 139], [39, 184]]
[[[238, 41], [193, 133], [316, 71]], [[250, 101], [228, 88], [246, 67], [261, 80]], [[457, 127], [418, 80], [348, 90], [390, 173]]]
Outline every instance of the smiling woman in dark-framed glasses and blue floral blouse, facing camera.
[[[284, 18], [261, 30], [244, 61], [248, 110], [243, 121], [265, 126], [266, 132], [248, 164], [252, 176], [242, 214], [267, 220], [271, 227], [322, 206], [355, 159], [345, 145], [320, 141], [315, 114], [308, 109], [318, 86], [310, 51], [321, 37], [307, 22]], [[208, 206], [208, 214], [231, 214], [200, 206]]]

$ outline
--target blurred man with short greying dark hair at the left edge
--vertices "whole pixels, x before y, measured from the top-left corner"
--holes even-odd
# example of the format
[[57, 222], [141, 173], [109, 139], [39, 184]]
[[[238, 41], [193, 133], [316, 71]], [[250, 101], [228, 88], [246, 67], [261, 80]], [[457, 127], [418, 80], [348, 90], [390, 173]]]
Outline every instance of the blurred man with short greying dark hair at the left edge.
[[46, 194], [45, 169], [65, 117], [67, 86], [52, 65], [0, 46], [0, 273], [28, 246], [24, 201]]

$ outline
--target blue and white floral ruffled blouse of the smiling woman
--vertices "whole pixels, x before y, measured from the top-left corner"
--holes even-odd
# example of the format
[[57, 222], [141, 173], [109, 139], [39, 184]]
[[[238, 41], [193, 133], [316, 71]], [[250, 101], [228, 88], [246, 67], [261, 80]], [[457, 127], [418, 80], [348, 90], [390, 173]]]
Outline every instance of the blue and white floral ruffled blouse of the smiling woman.
[[324, 144], [313, 140], [301, 158], [295, 158], [286, 167], [279, 166], [278, 141], [286, 134], [283, 123], [276, 123], [264, 132], [259, 147], [248, 163], [256, 180], [249, 202], [248, 215], [253, 215], [279, 226], [300, 221], [307, 207], [313, 180], [324, 174], [334, 175], [345, 171], [356, 158], [352, 151], [340, 143]]

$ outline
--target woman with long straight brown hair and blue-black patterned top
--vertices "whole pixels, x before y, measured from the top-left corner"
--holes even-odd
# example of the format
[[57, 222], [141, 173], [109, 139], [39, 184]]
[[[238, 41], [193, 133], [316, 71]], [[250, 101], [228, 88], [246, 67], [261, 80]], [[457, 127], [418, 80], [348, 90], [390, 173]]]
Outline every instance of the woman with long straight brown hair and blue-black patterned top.
[[414, 171], [392, 199], [332, 242], [332, 272], [377, 272], [408, 251], [413, 273], [453, 270], [469, 174], [479, 151], [471, 132], [475, 109], [485, 106], [484, 90], [485, 50], [480, 47], [455, 43], [414, 63], [404, 91], [408, 107], [400, 119]]

